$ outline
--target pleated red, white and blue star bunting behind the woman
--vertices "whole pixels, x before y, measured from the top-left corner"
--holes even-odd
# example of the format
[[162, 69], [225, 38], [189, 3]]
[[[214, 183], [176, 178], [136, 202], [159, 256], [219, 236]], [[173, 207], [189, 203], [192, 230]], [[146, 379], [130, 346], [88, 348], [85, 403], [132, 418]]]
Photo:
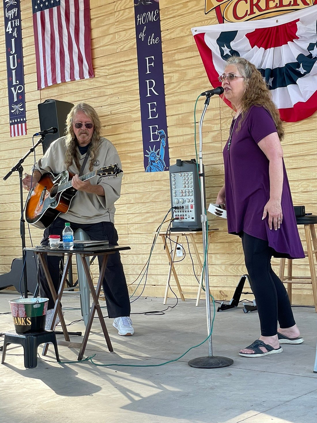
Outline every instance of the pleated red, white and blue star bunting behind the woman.
[[[317, 5], [249, 22], [192, 28], [213, 87], [230, 56], [253, 63], [266, 80], [286, 122], [317, 110]], [[227, 101], [226, 101], [227, 102]]]

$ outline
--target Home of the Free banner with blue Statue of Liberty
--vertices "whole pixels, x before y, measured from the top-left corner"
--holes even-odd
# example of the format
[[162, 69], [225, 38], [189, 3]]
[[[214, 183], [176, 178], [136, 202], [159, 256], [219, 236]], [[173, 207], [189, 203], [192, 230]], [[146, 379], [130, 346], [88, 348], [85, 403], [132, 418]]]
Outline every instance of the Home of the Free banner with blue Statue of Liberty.
[[[134, 0], [145, 172], [169, 169], [158, 0]], [[147, 154], [146, 154], [147, 153]]]

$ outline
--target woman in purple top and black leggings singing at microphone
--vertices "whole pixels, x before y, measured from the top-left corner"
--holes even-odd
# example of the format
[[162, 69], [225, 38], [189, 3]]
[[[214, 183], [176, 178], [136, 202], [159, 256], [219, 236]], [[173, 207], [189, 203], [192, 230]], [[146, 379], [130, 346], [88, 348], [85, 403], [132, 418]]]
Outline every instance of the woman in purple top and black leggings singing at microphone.
[[242, 239], [261, 327], [260, 338], [239, 354], [263, 357], [282, 352], [280, 343], [303, 342], [271, 258], [305, 255], [283, 161], [284, 130], [271, 93], [255, 66], [240, 57], [227, 60], [219, 81], [236, 113], [223, 151], [225, 184], [216, 203], [226, 204], [228, 232]]

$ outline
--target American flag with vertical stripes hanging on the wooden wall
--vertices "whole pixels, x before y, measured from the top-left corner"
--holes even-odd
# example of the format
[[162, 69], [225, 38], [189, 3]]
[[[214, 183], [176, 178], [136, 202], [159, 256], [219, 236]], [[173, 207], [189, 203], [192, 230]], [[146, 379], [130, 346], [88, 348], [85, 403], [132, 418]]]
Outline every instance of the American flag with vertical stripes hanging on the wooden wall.
[[89, 0], [32, 0], [38, 90], [93, 77]]

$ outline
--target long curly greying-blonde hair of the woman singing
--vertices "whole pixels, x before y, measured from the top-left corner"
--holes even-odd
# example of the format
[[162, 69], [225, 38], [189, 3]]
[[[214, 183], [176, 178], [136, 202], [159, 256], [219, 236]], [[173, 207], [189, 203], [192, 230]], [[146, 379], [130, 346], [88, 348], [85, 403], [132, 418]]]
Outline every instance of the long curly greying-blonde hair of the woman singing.
[[282, 121], [279, 116], [279, 111], [276, 109], [276, 106], [272, 101], [271, 93], [265, 80], [263, 80], [260, 71], [258, 71], [257, 68], [248, 60], [238, 56], [231, 56], [227, 60], [227, 64], [235, 65], [240, 74], [245, 77], [246, 90], [240, 100], [242, 106], [242, 119], [239, 122], [238, 130], [240, 129], [241, 122], [243, 121], [246, 112], [251, 106], [254, 104], [257, 106], [263, 106], [271, 114], [281, 141], [284, 137]]

